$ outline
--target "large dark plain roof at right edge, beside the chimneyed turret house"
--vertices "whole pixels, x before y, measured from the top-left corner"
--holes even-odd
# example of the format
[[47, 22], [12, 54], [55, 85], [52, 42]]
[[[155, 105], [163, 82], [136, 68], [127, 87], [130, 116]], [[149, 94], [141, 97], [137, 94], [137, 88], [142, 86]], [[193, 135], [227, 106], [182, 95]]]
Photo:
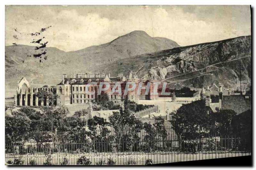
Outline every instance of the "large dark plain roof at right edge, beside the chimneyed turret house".
[[251, 99], [246, 99], [243, 95], [223, 96], [221, 109], [234, 110], [237, 114], [251, 110]]

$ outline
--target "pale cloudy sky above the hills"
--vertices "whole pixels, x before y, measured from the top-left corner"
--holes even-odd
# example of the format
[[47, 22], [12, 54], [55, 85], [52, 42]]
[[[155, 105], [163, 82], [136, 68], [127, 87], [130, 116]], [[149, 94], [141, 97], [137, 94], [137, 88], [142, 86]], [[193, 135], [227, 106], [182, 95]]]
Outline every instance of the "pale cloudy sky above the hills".
[[30, 34], [46, 27], [40, 36], [47, 47], [64, 51], [108, 43], [134, 30], [187, 46], [251, 35], [251, 12], [249, 5], [5, 7], [6, 46], [34, 45]]

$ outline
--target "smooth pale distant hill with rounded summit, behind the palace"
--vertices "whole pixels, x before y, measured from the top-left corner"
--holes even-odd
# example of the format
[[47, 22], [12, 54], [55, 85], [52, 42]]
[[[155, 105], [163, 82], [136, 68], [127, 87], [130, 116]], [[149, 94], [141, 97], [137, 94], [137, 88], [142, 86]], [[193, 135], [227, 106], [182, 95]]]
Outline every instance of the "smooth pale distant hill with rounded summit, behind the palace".
[[77, 51], [64, 52], [57, 48], [47, 47], [48, 58], [42, 59], [42, 62], [33, 57], [34, 46], [6, 46], [6, 95], [13, 95], [21, 77], [26, 77], [34, 84], [54, 85], [59, 83], [62, 73], [92, 73], [90, 66], [99, 68], [100, 64], [174, 47], [179, 47], [179, 45], [167, 38], [151, 37], [144, 31], [133, 31], [109, 43]]

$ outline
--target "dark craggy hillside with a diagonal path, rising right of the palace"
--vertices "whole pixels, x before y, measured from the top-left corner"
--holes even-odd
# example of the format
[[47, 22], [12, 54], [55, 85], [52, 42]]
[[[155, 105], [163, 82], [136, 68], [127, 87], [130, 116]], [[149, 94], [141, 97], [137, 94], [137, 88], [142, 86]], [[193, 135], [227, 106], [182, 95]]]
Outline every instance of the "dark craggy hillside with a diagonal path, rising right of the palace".
[[167, 79], [172, 88], [202, 87], [213, 82], [236, 84], [238, 61], [243, 63], [242, 80], [251, 81], [251, 36], [138, 55], [100, 68], [112, 74], [132, 71], [139, 77]]

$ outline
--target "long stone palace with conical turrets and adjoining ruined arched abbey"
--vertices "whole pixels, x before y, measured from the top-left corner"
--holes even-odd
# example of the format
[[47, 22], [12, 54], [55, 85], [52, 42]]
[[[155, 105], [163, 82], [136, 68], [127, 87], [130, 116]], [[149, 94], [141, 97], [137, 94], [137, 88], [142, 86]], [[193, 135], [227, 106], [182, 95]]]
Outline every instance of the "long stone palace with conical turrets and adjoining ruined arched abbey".
[[[90, 104], [101, 100], [104, 93], [114, 103], [120, 103], [126, 98], [135, 102], [140, 99], [154, 100], [158, 98], [158, 94], [153, 93], [154, 82], [156, 80], [150, 77], [140, 80], [132, 73], [128, 76], [120, 73], [116, 77], [105, 73], [79, 73], [69, 77], [63, 74], [61, 82], [55, 86], [34, 87], [22, 78], [14, 95], [14, 102], [17, 106]], [[38, 95], [41, 90], [49, 95]], [[52, 100], [52, 97], [56, 97], [56, 100]]]

